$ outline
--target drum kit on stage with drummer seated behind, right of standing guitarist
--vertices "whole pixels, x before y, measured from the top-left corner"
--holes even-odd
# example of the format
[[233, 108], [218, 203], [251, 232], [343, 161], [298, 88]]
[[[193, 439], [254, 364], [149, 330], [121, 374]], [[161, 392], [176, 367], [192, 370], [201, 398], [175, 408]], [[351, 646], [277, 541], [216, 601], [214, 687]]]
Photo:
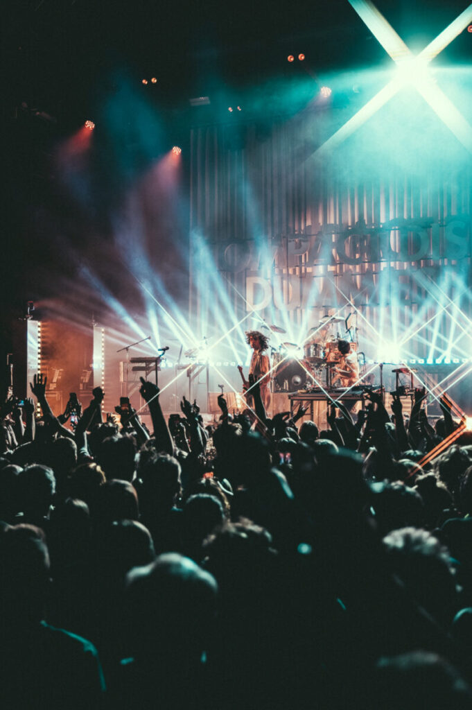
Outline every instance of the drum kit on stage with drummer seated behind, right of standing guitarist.
[[[344, 323], [344, 318], [325, 317], [317, 326], [310, 329], [302, 346], [283, 342], [278, 349], [273, 348], [271, 368], [273, 392], [294, 392], [302, 389], [310, 391], [316, 388], [317, 382], [322, 381], [329, 386], [331, 367], [341, 359], [338, 349], [338, 340], [341, 336], [338, 332], [335, 333], [339, 323]], [[270, 325], [269, 329], [278, 334], [286, 333], [285, 329], [275, 324]], [[355, 342], [351, 342], [351, 349], [356, 351]], [[297, 356], [297, 351], [300, 351], [300, 357]]]

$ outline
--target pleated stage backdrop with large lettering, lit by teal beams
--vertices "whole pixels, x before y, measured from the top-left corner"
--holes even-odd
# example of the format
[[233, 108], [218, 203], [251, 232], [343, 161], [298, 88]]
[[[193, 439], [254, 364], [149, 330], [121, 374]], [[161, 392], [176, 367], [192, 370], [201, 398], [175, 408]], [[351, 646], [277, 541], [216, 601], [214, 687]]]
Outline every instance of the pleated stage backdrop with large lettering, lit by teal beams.
[[192, 131], [191, 322], [300, 344], [339, 314], [368, 360], [468, 357], [471, 156], [443, 124], [323, 151], [318, 116]]

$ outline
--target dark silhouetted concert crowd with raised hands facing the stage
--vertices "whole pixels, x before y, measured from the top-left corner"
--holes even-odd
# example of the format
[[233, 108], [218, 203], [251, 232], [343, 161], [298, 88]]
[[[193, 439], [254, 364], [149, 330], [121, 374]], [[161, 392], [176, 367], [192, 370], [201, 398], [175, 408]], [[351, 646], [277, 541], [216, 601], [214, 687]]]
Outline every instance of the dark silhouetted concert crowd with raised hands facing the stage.
[[[182, 398], [1, 408], [5, 708], [468, 708], [472, 437], [369, 391], [328, 428]], [[403, 400], [405, 401], [405, 400]], [[354, 420], [355, 419], [355, 420]]]

